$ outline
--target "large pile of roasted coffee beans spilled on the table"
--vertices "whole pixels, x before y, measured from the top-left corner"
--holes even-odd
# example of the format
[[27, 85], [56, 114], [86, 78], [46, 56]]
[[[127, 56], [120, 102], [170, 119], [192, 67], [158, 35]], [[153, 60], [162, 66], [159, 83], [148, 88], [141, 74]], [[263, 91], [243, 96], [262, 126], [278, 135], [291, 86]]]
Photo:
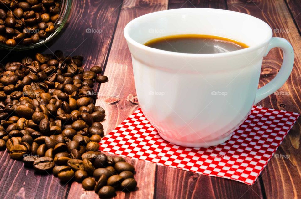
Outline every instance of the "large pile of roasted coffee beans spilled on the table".
[[134, 167], [98, 151], [105, 110], [94, 104], [101, 67], [82, 67], [82, 56], [63, 52], [12, 61], [0, 72], [0, 149], [37, 173], [82, 182], [101, 198], [134, 190]]

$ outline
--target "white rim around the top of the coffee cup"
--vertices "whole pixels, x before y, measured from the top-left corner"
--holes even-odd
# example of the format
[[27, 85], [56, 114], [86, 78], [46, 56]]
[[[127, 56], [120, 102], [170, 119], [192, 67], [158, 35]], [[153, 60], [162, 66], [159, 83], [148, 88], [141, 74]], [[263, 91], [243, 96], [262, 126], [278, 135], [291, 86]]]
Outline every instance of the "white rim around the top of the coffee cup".
[[[141, 43], [135, 41], [134, 39], [132, 39], [129, 36], [129, 29], [131, 28], [131, 26], [133, 24], [135, 24], [137, 21], [141, 20], [142, 18], [150, 17], [150, 16], [156, 15], [158, 13], [177, 12], [179, 10], [187, 10], [187, 13], [189, 13], [189, 10], [192, 10], [192, 9], [193, 10], [214, 10], [214, 11], [218, 11], [218, 12], [234, 13], [234, 14], [237, 14], [237, 15], [244, 15], [244, 16], [247, 15], [250, 18], [260, 20], [262, 23], [264, 23], [267, 26], [267, 28], [269, 29], [269, 36], [263, 42], [261, 42], [259, 44], [256, 44], [254, 46], [250, 46], [248, 48], [243, 48], [243, 49], [240, 49], [240, 50], [224, 52], [224, 53], [209, 53], [209, 54], [179, 53], [179, 52], [171, 52], [171, 51], [151, 48], [149, 46], [145, 46], [144, 44], [141, 44]], [[211, 57], [211, 58], [213, 57], [213, 58], [215, 58], [215, 57], [227, 57], [227, 56], [232, 56], [232, 55], [239, 55], [239, 54], [248, 53], [248, 52], [251, 52], [253, 50], [256, 50], [256, 49], [261, 48], [262, 46], [266, 45], [266, 43], [268, 43], [270, 41], [272, 36], [273, 36], [272, 28], [266, 22], [262, 21], [261, 19], [259, 19], [257, 17], [254, 17], [252, 15], [248, 15], [248, 14], [245, 14], [245, 13], [236, 12], [236, 11], [223, 10], [223, 9], [213, 9], [213, 8], [179, 8], [179, 9], [162, 10], [162, 11], [157, 11], [157, 12], [153, 12], [153, 13], [148, 13], [148, 14], [142, 15], [140, 17], [137, 17], [137, 18], [131, 20], [124, 28], [124, 37], [125, 37], [125, 39], [127, 40], [127, 42], [131, 43], [136, 48], [140, 48], [141, 50], [146, 50], [146, 51], [149, 51], [151, 53], [160, 53], [160, 54], [169, 55], [169, 56], [182, 56], [182, 57], [187, 57], [187, 58], [203, 58], [203, 57]]]

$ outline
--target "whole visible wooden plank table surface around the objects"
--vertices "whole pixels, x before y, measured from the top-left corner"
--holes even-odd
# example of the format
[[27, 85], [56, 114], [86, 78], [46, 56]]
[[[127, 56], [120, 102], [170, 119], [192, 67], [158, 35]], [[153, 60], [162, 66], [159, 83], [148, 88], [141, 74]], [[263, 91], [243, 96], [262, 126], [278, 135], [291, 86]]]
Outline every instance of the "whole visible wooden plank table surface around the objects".
[[[300, 0], [75, 0], [64, 32], [54, 42], [32, 52], [61, 49], [69, 55], [83, 55], [85, 69], [103, 68], [109, 81], [97, 84], [97, 105], [106, 110], [103, 122], [108, 133], [133, 113], [138, 105], [127, 101], [136, 94], [130, 53], [123, 37], [124, 26], [132, 19], [159, 10], [175, 8], [219, 8], [247, 13], [267, 22], [273, 36], [287, 39], [295, 50], [293, 72], [281, 89], [257, 105], [300, 113], [301, 105], [301, 1]], [[101, 30], [89, 33], [87, 28]], [[0, 60], [18, 56], [0, 51]], [[259, 87], [271, 81], [281, 66], [283, 54], [274, 48], [264, 58]], [[282, 94], [281, 94], [282, 93]], [[117, 97], [117, 104], [104, 99]], [[195, 174], [189, 171], [131, 160], [136, 167], [138, 189], [118, 192], [116, 198], [297, 198], [301, 197], [301, 117], [288, 133], [276, 154], [254, 185]], [[32, 169], [0, 152], [0, 198], [98, 198], [81, 184], [60, 184], [52, 175], [34, 175]]]

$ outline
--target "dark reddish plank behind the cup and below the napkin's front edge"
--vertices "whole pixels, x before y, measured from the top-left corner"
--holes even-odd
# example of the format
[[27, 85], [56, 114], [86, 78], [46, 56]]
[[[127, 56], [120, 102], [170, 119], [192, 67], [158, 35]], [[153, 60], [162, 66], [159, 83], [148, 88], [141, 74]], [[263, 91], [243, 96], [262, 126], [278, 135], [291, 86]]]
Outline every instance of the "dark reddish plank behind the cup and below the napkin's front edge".
[[[219, 8], [225, 9], [225, 1], [170, 0], [169, 8]], [[157, 198], [262, 198], [259, 181], [253, 186], [233, 180], [195, 174], [189, 171], [157, 166]], [[170, 183], [172, 182], [172, 183]]]

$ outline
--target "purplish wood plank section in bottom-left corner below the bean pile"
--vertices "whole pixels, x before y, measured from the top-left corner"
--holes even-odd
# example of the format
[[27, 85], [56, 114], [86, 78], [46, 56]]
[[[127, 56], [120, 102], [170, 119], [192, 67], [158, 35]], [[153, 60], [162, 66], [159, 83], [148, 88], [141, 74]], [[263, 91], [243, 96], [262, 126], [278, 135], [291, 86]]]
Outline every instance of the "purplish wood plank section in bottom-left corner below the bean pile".
[[[70, 185], [63, 185], [53, 175], [35, 175], [23, 162], [10, 159], [0, 151], [0, 198], [65, 198]], [[56, 191], [53, 191], [56, 190]]]

